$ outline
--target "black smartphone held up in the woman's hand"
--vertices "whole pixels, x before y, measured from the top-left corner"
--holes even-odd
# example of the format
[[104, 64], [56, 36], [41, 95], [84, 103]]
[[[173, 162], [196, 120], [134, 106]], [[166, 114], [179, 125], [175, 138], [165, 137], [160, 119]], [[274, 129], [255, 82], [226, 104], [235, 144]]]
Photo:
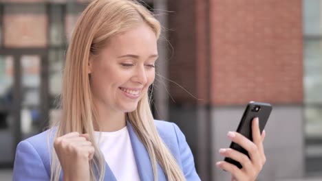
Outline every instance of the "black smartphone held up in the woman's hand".
[[[263, 102], [255, 102], [250, 101], [248, 105], [246, 106], [246, 109], [244, 111], [243, 117], [241, 117], [241, 120], [239, 122], [238, 128], [236, 132], [239, 132], [240, 134], [243, 134], [246, 136], [246, 138], [250, 139], [250, 141], [253, 141], [252, 136], [252, 121], [255, 117], [258, 117], [259, 119], [259, 130], [263, 132], [264, 127], [266, 125], [266, 122], [268, 121], [268, 117], [270, 117], [270, 112], [272, 112], [272, 106], [268, 103]], [[238, 145], [237, 143], [231, 143], [230, 148], [237, 150], [238, 152], [241, 152], [243, 154], [246, 154], [249, 158], [248, 152], [246, 149]], [[224, 159], [226, 162], [230, 162], [233, 165], [236, 165], [239, 169], [242, 168], [241, 164], [237, 162], [236, 160], [233, 160], [231, 158], [226, 157]]]

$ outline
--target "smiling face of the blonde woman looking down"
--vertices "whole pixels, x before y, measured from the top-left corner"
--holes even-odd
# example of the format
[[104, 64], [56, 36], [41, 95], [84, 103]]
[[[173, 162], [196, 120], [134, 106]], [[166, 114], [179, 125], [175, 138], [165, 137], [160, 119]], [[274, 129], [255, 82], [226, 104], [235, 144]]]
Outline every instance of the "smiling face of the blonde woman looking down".
[[154, 80], [157, 58], [157, 38], [145, 23], [112, 37], [107, 47], [89, 60], [91, 88], [99, 110], [136, 110]]

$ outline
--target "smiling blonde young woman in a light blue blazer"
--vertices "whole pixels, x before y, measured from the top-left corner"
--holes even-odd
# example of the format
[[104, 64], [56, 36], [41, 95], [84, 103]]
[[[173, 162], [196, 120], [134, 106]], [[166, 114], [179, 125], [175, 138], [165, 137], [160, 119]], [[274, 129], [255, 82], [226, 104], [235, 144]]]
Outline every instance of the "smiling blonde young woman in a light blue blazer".
[[[177, 125], [155, 121], [148, 88], [155, 77], [160, 23], [130, 0], [95, 0], [74, 28], [65, 70], [61, 120], [21, 141], [13, 180], [200, 180]], [[236, 132], [218, 162], [233, 179], [255, 180], [265, 162], [258, 121], [255, 142]]]

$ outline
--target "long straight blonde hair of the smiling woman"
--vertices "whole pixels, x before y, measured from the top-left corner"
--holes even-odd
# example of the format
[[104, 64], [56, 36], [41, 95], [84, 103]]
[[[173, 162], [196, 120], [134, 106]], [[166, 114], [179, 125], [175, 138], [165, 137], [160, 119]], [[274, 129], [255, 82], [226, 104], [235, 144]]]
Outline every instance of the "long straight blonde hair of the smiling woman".
[[[80, 132], [88, 133], [89, 138], [94, 140], [94, 125], [98, 125], [98, 112], [94, 107], [89, 85], [89, 56], [97, 55], [112, 36], [142, 23], [149, 25], [157, 38], [160, 36], [160, 23], [149, 10], [136, 1], [95, 0], [87, 6], [76, 23], [67, 50], [61, 95], [63, 114], [61, 121], [51, 125], [52, 128], [56, 126], [54, 138], [68, 132]], [[185, 180], [175, 158], [155, 128], [147, 93], [138, 102], [138, 108], [125, 113], [125, 116], [149, 152], [154, 180], [158, 180], [157, 163], [168, 180]], [[90, 161], [91, 178], [103, 180], [105, 159], [98, 145], [93, 145], [96, 152]], [[58, 180], [60, 173], [61, 165], [52, 149], [50, 180]]]

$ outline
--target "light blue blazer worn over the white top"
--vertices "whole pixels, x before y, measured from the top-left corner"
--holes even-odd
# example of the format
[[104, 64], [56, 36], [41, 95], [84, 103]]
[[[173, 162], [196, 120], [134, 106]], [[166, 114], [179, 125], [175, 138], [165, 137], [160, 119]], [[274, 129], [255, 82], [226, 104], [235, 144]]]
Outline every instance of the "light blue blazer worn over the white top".
[[[170, 149], [179, 167], [184, 173], [186, 180], [200, 180], [195, 171], [195, 163], [186, 138], [175, 123], [166, 121], [155, 121], [155, 126], [162, 140]], [[129, 136], [131, 139], [133, 153], [136, 158], [138, 173], [142, 181], [153, 180], [153, 171], [147, 149], [141, 143], [134, 132], [131, 124], [127, 122]], [[50, 144], [47, 143], [48, 130], [21, 141], [17, 146], [16, 158], [14, 160], [13, 180], [14, 181], [38, 181], [50, 180], [50, 157], [53, 138], [50, 136]], [[50, 145], [50, 147], [48, 147]], [[123, 163], [126, 164], [126, 163]], [[167, 180], [160, 165], [157, 165], [158, 180]], [[61, 173], [63, 180], [63, 173]], [[105, 179], [116, 181], [116, 178], [106, 163]]]

